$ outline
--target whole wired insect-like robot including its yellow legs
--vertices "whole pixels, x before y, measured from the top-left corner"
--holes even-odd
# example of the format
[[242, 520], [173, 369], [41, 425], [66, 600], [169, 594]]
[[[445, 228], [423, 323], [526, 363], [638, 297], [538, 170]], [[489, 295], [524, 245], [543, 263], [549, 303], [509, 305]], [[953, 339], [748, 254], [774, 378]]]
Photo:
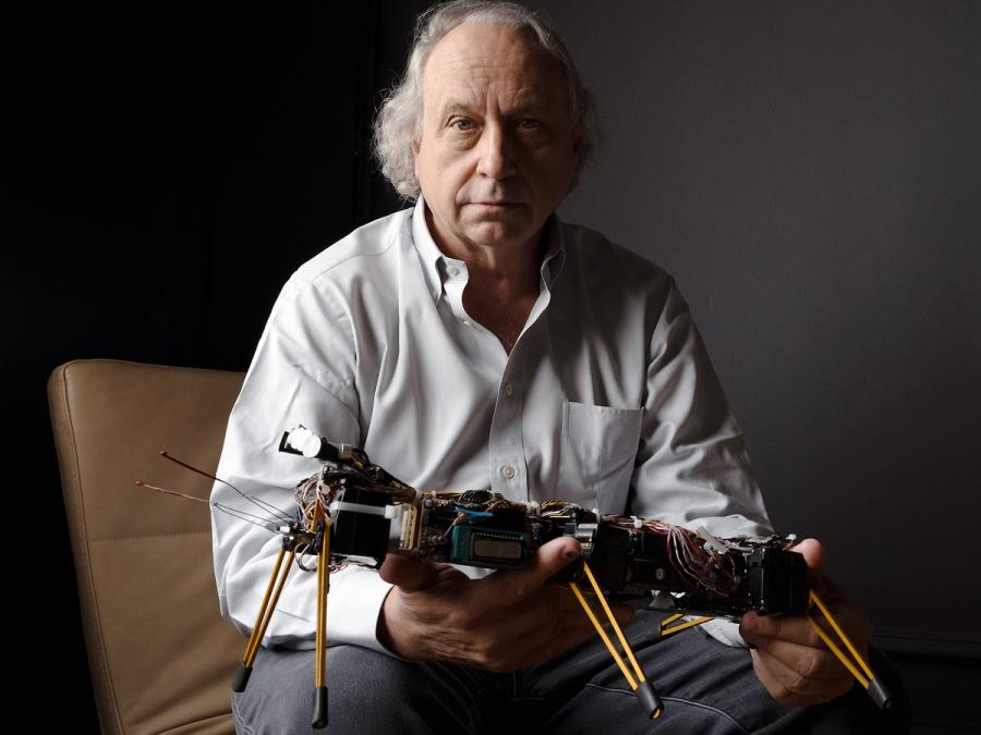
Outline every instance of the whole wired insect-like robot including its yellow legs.
[[[420, 492], [372, 464], [362, 450], [336, 444], [303, 427], [283, 434], [280, 449], [324, 463], [320, 471], [296, 486], [298, 519], [283, 532], [283, 549], [265, 598], [268, 602], [274, 588], [281, 588], [294, 558], [302, 569], [311, 571], [302, 559], [316, 556], [319, 591], [315, 727], [327, 723], [326, 642], [322, 630], [326, 626], [327, 579], [331, 569], [352, 562], [379, 566], [391, 551], [465, 566], [522, 568], [531, 563], [540, 546], [564, 536], [576, 538], [582, 554], [557, 575], [556, 581], [576, 595], [650, 719], [661, 715], [662, 700], [645, 681], [606, 602], [607, 593], [651, 595], [654, 607], [675, 612], [662, 624], [662, 636], [699, 625], [710, 616], [739, 617], [749, 611], [761, 615], [807, 615], [873, 701], [882, 709], [892, 703], [882, 682], [809, 588], [804, 559], [790, 551], [792, 537], [719, 539], [705, 528], [693, 531], [657, 519], [598, 517], [562, 501], [517, 503], [489, 490]], [[283, 567], [287, 552], [289, 561]], [[586, 585], [593, 601], [580, 589]], [[271, 605], [275, 604], [272, 599]], [[594, 610], [596, 604], [616, 633], [632, 671], [601, 623]], [[828, 621], [858, 667], [846, 660], [815, 623], [815, 610]], [[665, 627], [682, 613], [704, 616]], [[247, 683], [269, 615], [271, 608], [264, 602], [240, 666], [237, 690]]]

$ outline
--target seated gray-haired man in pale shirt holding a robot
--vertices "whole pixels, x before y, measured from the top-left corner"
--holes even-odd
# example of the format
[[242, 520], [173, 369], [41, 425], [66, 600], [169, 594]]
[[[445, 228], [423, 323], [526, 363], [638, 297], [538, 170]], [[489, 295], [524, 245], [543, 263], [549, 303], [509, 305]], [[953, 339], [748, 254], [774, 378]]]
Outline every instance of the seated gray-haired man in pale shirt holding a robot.
[[[560, 40], [525, 9], [464, 0], [422, 19], [377, 135], [383, 170], [415, 207], [287, 283], [219, 476], [288, 510], [289, 488], [316, 465], [276, 444], [302, 422], [420, 488], [766, 532], [741, 434], [671, 279], [554, 215], [585, 158], [588, 113]], [[238, 497], [218, 485], [213, 499]], [[222, 612], [245, 630], [279, 540], [213, 517]], [[816, 541], [799, 550], [820, 566]], [[481, 732], [520, 711], [546, 731], [647, 732], [574, 598], [549, 581], [578, 554], [559, 539], [530, 569], [483, 578], [391, 555], [380, 575], [334, 575], [331, 731]], [[308, 728], [315, 589], [315, 575], [291, 575], [235, 695], [243, 732]], [[861, 612], [834, 604], [864, 649]], [[667, 697], [665, 732], [837, 728], [852, 716], [794, 709], [852, 685], [804, 618], [748, 615], [750, 654], [725, 625], [718, 640], [693, 632], [654, 647], [654, 613], [615, 610], [634, 621], [631, 640]]]

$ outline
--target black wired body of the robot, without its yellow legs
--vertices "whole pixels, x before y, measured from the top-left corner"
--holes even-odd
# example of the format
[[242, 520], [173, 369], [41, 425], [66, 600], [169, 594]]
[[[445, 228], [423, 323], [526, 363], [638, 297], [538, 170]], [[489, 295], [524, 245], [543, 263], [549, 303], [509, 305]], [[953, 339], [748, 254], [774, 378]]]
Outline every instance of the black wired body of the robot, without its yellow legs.
[[[283, 451], [322, 457], [324, 468], [298, 486], [305, 517], [319, 499], [331, 518], [331, 564], [380, 565], [396, 549], [422, 559], [492, 569], [521, 568], [535, 549], [572, 536], [581, 559], [560, 576], [580, 578], [589, 562], [607, 592], [647, 596], [670, 611], [738, 617], [803, 613], [807, 565], [770, 538], [717, 539], [656, 519], [596, 517], [574, 503], [514, 503], [489, 490], [419, 492], [371, 464], [361, 450], [332, 444], [302, 427], [283, 436]], [[303, 510], [305, 509], [305, 510]], [[393, 532], [392, 520], [400, 519]]]

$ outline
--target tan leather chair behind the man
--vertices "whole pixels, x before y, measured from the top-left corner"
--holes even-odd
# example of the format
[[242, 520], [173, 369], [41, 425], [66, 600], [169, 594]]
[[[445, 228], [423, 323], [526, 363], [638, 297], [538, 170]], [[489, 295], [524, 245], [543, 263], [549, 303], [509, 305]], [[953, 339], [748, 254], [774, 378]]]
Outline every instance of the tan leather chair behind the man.
[[218, 612], [207, 498], [242, 373], [78, 360], [48, 381], [104, 733], [233, 733], [244, 639]]

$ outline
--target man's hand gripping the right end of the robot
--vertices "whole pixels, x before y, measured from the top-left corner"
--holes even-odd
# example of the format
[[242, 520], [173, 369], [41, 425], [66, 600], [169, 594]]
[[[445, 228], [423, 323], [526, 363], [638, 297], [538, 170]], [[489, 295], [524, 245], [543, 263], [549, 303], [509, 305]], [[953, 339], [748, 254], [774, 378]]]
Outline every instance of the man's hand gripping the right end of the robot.
[[[869, 617], [849, 602], [820, 571], [824, 549], [815, 539], [807, 539], [794, 551], [803, 554], [810, 569], [810, 583], [848, 634], [856, 650], [868, 661], [872, 626]], [[820, 615], [819, 615], [820, 617]], [[828, 629], [825, 626], [825, 629]], [[767, 691], [782, 705], [802, 707], [838, 697], [855, 684], [855, 678], [832, 653], [803, 615], [760, 616], [747, 613], [739, 633], [755, 650], [753, 669]], [[838, 642], [832, 633], [832, 640]], [[841, 645], [840, 648], [845, 649]]]

